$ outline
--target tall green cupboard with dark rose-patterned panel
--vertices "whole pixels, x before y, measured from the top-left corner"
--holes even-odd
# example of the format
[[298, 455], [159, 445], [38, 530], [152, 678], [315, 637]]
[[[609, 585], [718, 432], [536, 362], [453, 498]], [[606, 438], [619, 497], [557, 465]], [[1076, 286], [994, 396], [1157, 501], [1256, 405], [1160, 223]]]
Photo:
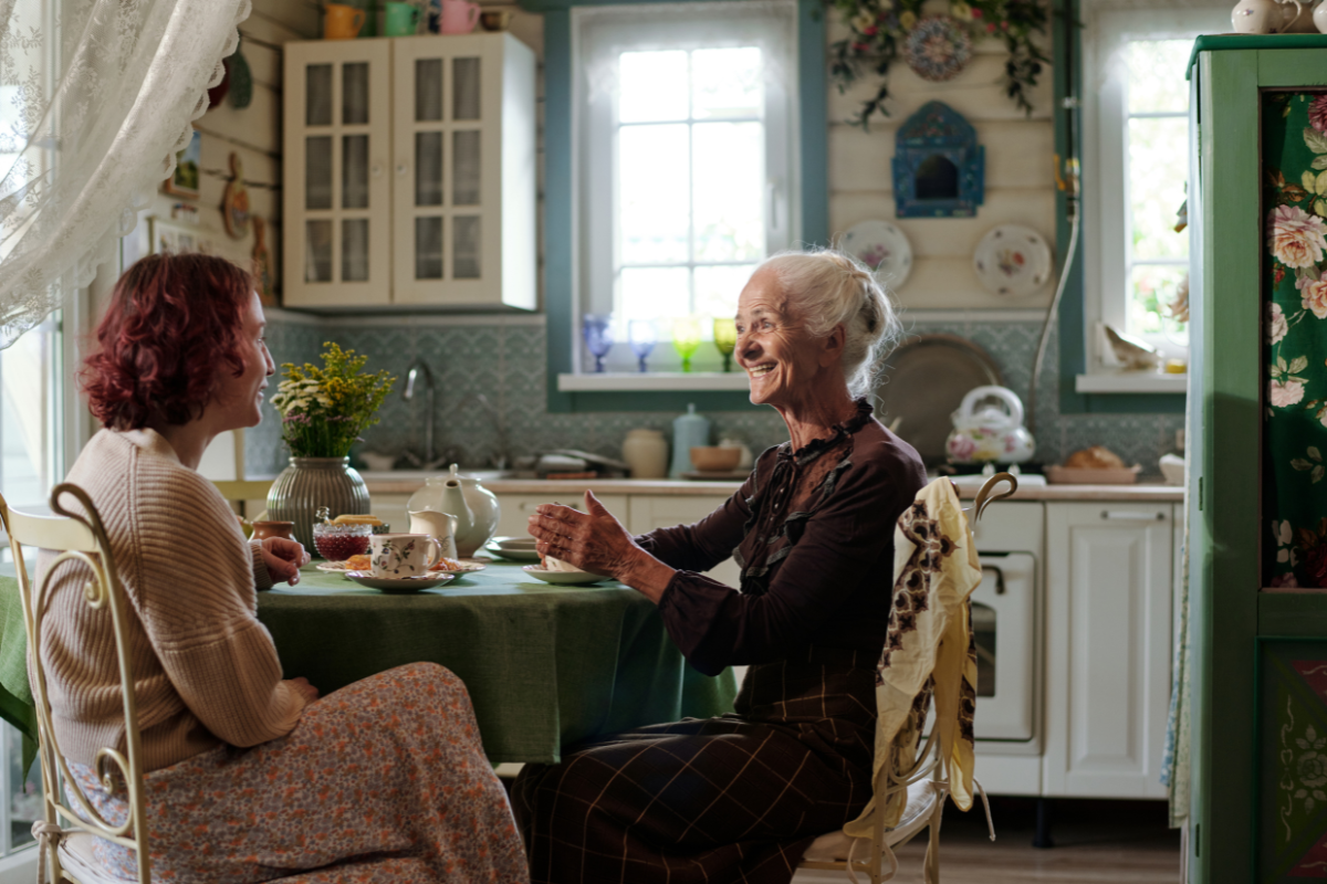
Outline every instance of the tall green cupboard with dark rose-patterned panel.
[[1190, 881], [1327, 877], [1327, 36], [1200, 37]]

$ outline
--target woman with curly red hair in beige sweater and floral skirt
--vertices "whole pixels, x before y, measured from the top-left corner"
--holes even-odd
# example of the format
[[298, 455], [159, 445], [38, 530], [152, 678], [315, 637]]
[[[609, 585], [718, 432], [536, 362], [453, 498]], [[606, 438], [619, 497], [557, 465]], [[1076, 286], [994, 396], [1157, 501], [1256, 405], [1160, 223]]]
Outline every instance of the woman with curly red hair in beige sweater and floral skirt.
[[[97, 505], [134, 618], [154, 880], [524, 881], [506, 794], [464, 685], [413, 664], [317, 698], [281, 661], [256, 590], [296, 582], [292, 541], [247, 543], [198, 474], [207, 444], [261, 419], [275, 367], [248, 276], [204, 256], [143, 258], [119, 280], [82, 386], [105, 424], [69, 481]], [[125, 750], [109, 614], [60, 566], [44, 643], [56, 736], [78, 785], [123, 819], [94, 771]], [[328, 648], [328, 653], [340, 653]], [[102, 864], [137, 875], [131, 851]]]

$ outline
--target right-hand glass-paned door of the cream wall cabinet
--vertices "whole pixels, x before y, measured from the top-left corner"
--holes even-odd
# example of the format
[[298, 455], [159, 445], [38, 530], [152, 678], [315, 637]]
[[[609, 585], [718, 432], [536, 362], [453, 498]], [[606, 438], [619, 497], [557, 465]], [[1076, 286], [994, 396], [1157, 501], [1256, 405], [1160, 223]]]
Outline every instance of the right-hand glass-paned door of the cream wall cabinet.
[[[394, 300], [474, 302], [484, 281], [486, 224], [496, 186], [496, 109], [490, 77], [502, 72], [500, 42], [484, 37], [398, 40], [394, 48]], [[496, 171], [496, 170], [492, 170]]]

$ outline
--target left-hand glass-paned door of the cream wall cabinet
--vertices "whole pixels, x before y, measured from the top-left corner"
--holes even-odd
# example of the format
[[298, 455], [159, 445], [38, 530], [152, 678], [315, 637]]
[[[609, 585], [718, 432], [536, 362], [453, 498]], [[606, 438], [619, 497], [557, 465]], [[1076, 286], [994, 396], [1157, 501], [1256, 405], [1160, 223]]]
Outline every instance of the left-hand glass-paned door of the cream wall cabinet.
[[390, 41], [285, 45], [283, 304], [391, 297]]

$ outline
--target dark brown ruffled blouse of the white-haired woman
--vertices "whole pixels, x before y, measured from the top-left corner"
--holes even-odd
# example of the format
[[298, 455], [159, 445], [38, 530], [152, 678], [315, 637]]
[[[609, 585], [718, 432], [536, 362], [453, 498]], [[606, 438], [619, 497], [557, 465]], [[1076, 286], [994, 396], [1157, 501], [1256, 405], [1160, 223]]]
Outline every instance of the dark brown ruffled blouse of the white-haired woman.
[[[660, 598], [664, 624], [706, 675], [804, 649], [878, 655], [889, 622], [894, 522], [926, 484], [921, 457], [857, 414], [794, 452], [760, 455], [742, 488], [694, 525], [637, 542], [678, 573]], [[729, 557], [740, 591], [707, 571]]]

